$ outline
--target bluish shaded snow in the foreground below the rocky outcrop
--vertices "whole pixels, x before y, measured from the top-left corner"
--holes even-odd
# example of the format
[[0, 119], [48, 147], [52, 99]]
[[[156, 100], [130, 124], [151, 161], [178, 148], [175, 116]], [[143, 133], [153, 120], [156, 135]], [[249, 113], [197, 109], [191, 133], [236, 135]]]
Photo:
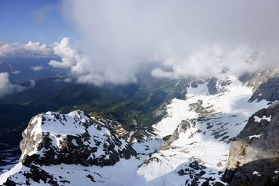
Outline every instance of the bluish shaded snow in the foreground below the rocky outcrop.
[[[146, 180], [144, 176], [140, 176], [136, 173], [138, 166], [149, 157], [150, 153], [153, 153], [154, 150], [162, 145], [163, 141], [161, 139], [151, 139], [142, 141], [142, 143], [133, 144], [133, 148], [139, 153], [138, 156], [132, 157], [130, 160], [121, 159], [113, 166], [100, 167], [59, 164], [40, 166], [40, 169], [55, 176], [59, 185], [69, 185], [68, 183], [63, 184], [60, 180], [68, 180], [70, 185], [141, 185], [140, 183], [146, 183]], [[13, 169], [0, 176], [0, 185], [6, 181], [8, 176], [28, 169], [28, 167], [22, 166], [21, 163], [17, 164]], [[88, 175], [91, 175], [95, 182], [92, 182], [92, 180], [87, 177]], [[23, 176], [17, 176], [17, 183], [21, 180], [24, 185], [26, 179]], [[31, 185], [44, 185], [43, 181], [36, 183], [31, 180], [30, 183]]]

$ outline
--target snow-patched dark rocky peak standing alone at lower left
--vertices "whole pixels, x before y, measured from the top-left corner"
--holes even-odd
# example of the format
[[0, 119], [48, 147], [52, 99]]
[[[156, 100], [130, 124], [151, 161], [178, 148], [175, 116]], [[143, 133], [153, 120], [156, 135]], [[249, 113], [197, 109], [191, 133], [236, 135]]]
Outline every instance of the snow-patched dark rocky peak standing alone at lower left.
[[112, 165], [120, 158], [130, 158], [135, 150], [125, 140], [115, 137], [100, 121], [83, 111], [69, 114], [47, 112], [33, 117], [20, 142], [20, 162], [35, 164]]

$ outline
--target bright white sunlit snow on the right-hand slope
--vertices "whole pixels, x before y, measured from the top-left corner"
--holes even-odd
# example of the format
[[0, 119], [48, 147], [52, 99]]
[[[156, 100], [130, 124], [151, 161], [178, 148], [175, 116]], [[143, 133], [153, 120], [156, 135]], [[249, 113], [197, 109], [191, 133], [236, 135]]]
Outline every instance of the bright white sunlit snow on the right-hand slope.
[[[181, 120], [187, 118], [197, 119], [196, 125], [195, 127], [191, 125], [185, 134], [180, 133], [179, 139], [171, 144], [172, 148], [160, 150], [153, 155], [153, 157], [158, 157], [160, 164], [152, 162], [148, 166], [141, 167], [138, 173], [144, 175], [146, 180], [164, 177], [168, 173], [175, 175], [173, 172], [179, 171], [181, 167], [185, 169], [188, 161], [195, 158], [205, 164], [206, 173], [215, 172], [213, 176], [216, 180], [219, 179], [218, 171], [222, 171], [226, 164], [229, 145], [233, 137], [243, 130], [249, 116], [267, 107], [268, 103], [266, 101], [248, 102], [252, 95], [252, 88], [242, 85], [235, 77], [229, 77], [227, 80], [232, 81], [232, 84], [225, 86], [226, 91], [223, 93], [209, 95], [205, 83], [199, 84], [197, 88], [188, 88], [186, 100], [172, 100], [167, 106], [167, 116], [153, 126], [155, 133], [159, 137], [170, 135]], [[195, 112], [195, 109], [191, 111], [189, 104], [196, 103], [197, 100], [202, 100], [202, 106], [208, 107], [206, 110], [212, 112], [201, 116]], [[164, 171], [155, 174], [151, 172], [151, 169], [164, 169]], [[185, 178], [177, 185], [185, 183]]]

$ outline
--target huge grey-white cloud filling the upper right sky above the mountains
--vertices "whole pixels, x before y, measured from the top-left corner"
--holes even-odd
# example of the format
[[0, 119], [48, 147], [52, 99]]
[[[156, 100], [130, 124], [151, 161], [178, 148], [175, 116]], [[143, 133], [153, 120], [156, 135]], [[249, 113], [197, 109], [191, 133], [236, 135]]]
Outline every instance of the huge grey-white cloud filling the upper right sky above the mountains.
[[279, 1], [63, 1], [77, 33], [54, 53], [78, 82], [135, 82], [144, 63], [156, 77], [210, 77], [278, 62]]

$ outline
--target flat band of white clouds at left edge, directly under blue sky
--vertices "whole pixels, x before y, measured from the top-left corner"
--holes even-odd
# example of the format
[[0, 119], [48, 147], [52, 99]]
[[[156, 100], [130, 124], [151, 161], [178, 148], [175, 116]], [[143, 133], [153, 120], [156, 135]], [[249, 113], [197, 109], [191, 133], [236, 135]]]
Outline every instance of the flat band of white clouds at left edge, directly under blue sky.
[[52, 55], [52, 47], [40, 42], [27, 44], [0, 42], [0, 56], [49, 56]]

